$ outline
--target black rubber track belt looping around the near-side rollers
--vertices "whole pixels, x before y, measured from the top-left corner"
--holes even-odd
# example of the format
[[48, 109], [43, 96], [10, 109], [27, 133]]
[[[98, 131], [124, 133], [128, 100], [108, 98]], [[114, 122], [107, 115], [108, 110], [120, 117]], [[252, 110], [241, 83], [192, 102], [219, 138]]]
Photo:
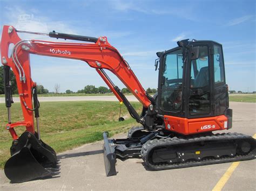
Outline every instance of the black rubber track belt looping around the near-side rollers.
[[[150, 164], [149, 160], [147, 159], [149, 153], [157, 147], [165, 147], [165, 146], [174, 146], [180, 144], [189, 144], [189, 143], [196, 143], [202, 141], [217, 141], [217, 140], [241, 140], [241, 139], [251, 139], [254, 141], [254, 150], [252, 150], [247, 155], [235, 155], [233, 158], [219, 158], [219, 159], [205, 159], [201, 161], [189, 161], [189, 162], [180, 162], [179, 164], [157, 164], [153, 165]], [[186, 168], [192, 166], [203, 166], [203, 165], [211, 165], [211, 164], [219, 164], [224, 162], [233, 162], [233, 161], [242, 161], [242, 160], [251, 160], [255, 158], [255, 139], [251, 136], [244, 135], [241, 133], [222, 133], [222, 134], [212, 134], [210, 136], [202, 136], [202, 137], [191, 137], [191, 138], [161, 138], [161, 139], [153, 139], [147, 141], [142, 147], [142, 159], [144, 160], [145, 164], [154, 171], [160, 171], [164, 169], [174, 169], [174, 168]]]

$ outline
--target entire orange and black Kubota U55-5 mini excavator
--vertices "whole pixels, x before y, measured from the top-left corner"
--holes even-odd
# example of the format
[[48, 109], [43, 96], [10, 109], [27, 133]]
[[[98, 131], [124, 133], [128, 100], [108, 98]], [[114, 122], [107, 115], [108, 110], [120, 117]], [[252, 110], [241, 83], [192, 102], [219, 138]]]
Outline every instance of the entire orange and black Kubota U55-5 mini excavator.
[[[38, 34], [70, 42], [22, 40], [18, 33]], [[73, 41], [79, 41], [73, 43]], [[85, 41], [86, 43], [81, 41]], [[9, 46], [14, 44], [13, 49]], [[223, 47], [211, 40], [184, 39], [178, 46], [157, 52], [158, 92], [146, 93], [129, 63], [106, 37], [86, 37], [59, 32], [33, 32], [4, 26], [1, 60], [4, 68], [6, 129], [12, 136], [11, 157], [4, 172], [11, 182], [55, 176], [59, 173], [56, 152], [41, 139], [37, 84], [31, 78], [30, 54], [82, 60], [96, 72], [123, 102], [140, 126], [127, 138], [110, 139], [103, 132], [106, 176], [116, 175], [116, 161], [141, 157], [153, 171], [251, 160], [254, 138], [241, 133], [213, 133], [232, 128], [228, 103]], [[24, 120], [12, 122], [10, 70], [14, 72]], [[141, 114], [106, 74], [109, 70], [143, 105]], [[150, 76], [149, 76], [150, 77]], [[25, 126], [17, 135], [15, 129]]]

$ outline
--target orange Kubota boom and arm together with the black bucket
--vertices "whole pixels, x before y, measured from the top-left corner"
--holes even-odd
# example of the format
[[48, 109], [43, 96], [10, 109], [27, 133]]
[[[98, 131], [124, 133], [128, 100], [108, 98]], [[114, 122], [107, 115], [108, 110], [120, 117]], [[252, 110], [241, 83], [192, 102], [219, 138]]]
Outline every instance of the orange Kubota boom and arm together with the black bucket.
[[[18, 32], [46, 35], [52, 38], [86, 41], [89, 43], [59, 43], [43, 40], [22, 40]], [[14, 48], [10, 51], [10, 45]], [[156, 117], [154, 99], [146, 93], [137, 77], [132, 72], [129, 64], [123, 59], [116, 48], [111, 46], [106, 37], [85, 37], [74, 34], [38, 33], [16, 30], [13, 26], [4, 26], [1, 40], [1, 60], [4, 65], [4, 89], [5, 103], [8, 109], [8, 124], [6, 129], [11, 133], [13, 142], [10, 148], [11, 158], [6, 161], [5, 175], [12, 182], [24, 182], [45, 176], [58, 174], [58, 160], [56, 152], [45, 144], [39, 130], [39, 102], [37, 99], [36, 83], [31, 78], [30, 54], [54, 56], [58, 58], [76, 59], [86, 62], [102, 77], [107, 86], [112, 90], [120, 102], [123, 102], [131, 116], [141, 123], [145, 129], [152, 129]], [[11, 120], [11, 83], [10, 70], [15, 74], [18, 94], [21, 101], [23, 121]], [[143, 104], [141, 115], [132, 107], [122, 91], [114, 85], [105, 73], [110, 70], [131, 91], [131, 93]], [[34, 116], [37, 131], [35, 131]], [[25, 126], [26, 131], [17, 135], [15, 128]], [[105, 134], [104, 134], [105, 135]], [[107, 144], [107, 147], [109, 145]], [[109, 157], [112, 153], [106, 153]], [[111, 158], [107, 160], [113, 162]], [[107, 168], [106, 168], [107, 169]], [[24, 172], [30, 173], [24, 174]], [[116, 172], [114, 169], [112, 170]]]

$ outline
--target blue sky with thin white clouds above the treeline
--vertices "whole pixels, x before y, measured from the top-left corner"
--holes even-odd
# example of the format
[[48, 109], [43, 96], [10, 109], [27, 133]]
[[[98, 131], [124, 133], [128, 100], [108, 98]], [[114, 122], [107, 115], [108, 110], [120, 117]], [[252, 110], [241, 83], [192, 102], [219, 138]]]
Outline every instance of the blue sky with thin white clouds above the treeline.
[[[231, 90], [256, 91], [255, 1], [0, 1], [3, 25], [18, 29], [106, 36], [129, 62], [143, 87], [157, 88], [156, 52], [190, 38], [224, 47]], [[21, 20], [27, 15], [28, 19]], [[21, 34], [23, 39], [48, 39]], [[60, 40], [58, 40], [60, 41]], [[106, 86], [95, 69], [77, 60], [31, 55], [32, 78], [50, 91]], [[110, 73], [108, 73], [110, 74]], [[124, 86], [113, 75], [113, 81]]]

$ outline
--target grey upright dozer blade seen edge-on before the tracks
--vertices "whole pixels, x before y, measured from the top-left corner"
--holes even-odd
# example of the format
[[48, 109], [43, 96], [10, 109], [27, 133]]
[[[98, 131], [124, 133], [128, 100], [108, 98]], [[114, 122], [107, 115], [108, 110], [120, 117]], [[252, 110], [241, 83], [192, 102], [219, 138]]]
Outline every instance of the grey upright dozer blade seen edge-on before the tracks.
[[109, 136], [108, 132], [103, 133], [104, 145], [103, 145], [103, 155], [106, 169], [106, 176], [117, 175], [116, 172], [116, 154], [114, 153], [114, 143], [113, 140], [109, 140], [107, 137]]

